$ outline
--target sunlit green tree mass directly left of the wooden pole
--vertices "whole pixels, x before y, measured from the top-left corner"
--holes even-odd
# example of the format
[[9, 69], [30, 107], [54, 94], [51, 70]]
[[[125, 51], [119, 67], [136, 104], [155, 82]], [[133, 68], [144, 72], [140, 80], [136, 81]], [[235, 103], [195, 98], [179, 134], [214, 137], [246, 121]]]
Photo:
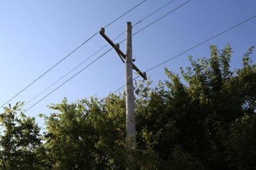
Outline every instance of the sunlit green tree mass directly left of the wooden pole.
[[[124, 99], [111, 95], [50, 106], [45, 148], [54, 169], [121, 168], [124, 162]], [[121, 123], [120, 123], [121, 122]]]

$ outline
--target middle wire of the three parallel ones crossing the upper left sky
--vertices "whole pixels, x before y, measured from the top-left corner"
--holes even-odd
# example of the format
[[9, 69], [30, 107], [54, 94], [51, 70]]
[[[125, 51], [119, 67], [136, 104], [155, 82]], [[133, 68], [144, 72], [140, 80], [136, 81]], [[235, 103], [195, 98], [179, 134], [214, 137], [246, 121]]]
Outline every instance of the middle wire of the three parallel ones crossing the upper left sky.
[[[138, 22], [136, 22], [136, 24], [132, 25], [132, 27], [140, 24], [143, 20], [147, 19], [148, 17], [154, 15], [154, 13], [156, 13], [159, 10], [162, 10], [164, 7], [168, 6], [169, 4], [171, 4], [174, 0], [169, 1], [168, 3], [164, 4], [163, 6], [161, 6], [160, 8], [157, 8], [157, 10], [153, 11], [152, 13], [150, 13], [149, 15], [147, 15], [144, 18], [141, 18], [141, 20], [139, 20]], [[120, 36], [122, 36], [124, 32], [121, 32], [120, 34], [118, 34], [118, 36], [116, 36], [112, 41], [115, 41], [115, 39], [119, 38]], [[122, 42], [121, 42], [122, 43]], [[101, 50], [103, 50], [104, 48], [106, 48], [106, 46], [108, 46], [109, 44], [107, 43], [106, 45], [102, 46], [102, 48], [100, 48], [99, 50], [97, 50], [97, 52], [93, 53], [92, 55], [90, 55], [90, 57], [86, 58], [85, 60], [83, 60], [80, 64], [78, 64], [76, 67], [74, 67], [73, 69], [71, 69], [70, 71], [68, 71], [66, 74], [64, 74], [63, 76], [61, 76], [61, 78], [59, 78], [58, 80], [54, 81], [54, 83], [52, 83], [51, 85], [49, 85], [49, 87], [45, 88], [44, 90], [42, 90], [42, 92], [38, 93], [35, 97], [33, 97], [32, 99], [30, 99], [28, 102], [26, 102], [22, 107], [26, 106], [27, 104], [31, 103], [31, 101], [33, 101], [34, 99], [36, 99], [36, 97], [40, 96], [41, 94], [43, 94], [45, 91], [47, 91], [48, 89], [50, 89], [53, 85], [55, 85], [56, 83], [58, 83], [58, 81], [62, 80], [63, 78], [65, 78], [65, 76], [67, 76], [68, 74], [72, 73], [72, 71], [74, 71], [75, 69], [77, 69], [77, 67], [81, 66], [82, 64], [84, 64], [84, 62], [86, 62], [88, 59], [92, 58], [94, 55], [96, 55], [97, 53], [99, 53]]]

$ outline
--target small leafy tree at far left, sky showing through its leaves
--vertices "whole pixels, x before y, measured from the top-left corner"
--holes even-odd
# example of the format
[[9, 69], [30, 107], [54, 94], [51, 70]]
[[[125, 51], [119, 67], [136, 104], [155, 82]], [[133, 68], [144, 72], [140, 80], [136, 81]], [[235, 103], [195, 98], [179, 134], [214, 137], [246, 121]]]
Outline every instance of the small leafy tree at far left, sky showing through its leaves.
[[[4, 127], [0, 135], [1, 169], [45, 169], [42, 161], [40, 128], [35, 118], [26, 117], [20, 110], [22, 103], [4, 108], [0, 122]], [[17, 114], [20, 114], [20, 118]]]

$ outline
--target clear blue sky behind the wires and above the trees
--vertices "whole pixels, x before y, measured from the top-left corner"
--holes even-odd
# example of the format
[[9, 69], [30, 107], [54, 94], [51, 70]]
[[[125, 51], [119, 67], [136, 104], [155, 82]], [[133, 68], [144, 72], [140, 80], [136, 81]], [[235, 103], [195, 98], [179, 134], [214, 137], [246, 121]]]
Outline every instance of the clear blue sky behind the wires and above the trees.
[[[100, 27], [104, 27], [141, 1], [0, 1], [0, 104], [8, 101], [56, 62], [81, 45], [92, 34], [99, 31]], [[143, 20], [132, 31], [140, 30], [184, 2], [186, 1], [173, 1], [163, 10]], [[168, 0], [145, 1], [131, 13], [109, 25], [106, 28], [106, 34], [109, 38], [115, 38], [120, 32], [125, 31], [127, 21], [135, 24], [166, 3]], [[192, 0], [179, 10], [132, 37], [135, 64], [141, 71], [145, 71], [256, 15], [255, 8], [255, 0]], [[148, 76], [156, 85], [159, 80], [166, 79], [164, 67], [179, 73], [179, 67], [189, 66], [188, 55], [192, 55], [195, 59], [209, 57], [209, 45], [217, 45], [219, 49], [222, 49], [227, 43], [230, 43], [230, 46], [234, 48], [232, 68], [241, 67], [243, 54], [250, 46], [256, 45], [255, 28], [256, 18], [180, 55], [163, 66], [157, 67], [148, 72]], [[116, 39], [115, 43], [124, 38], [125, 34]], [[17, 101], [29, 101], [104, 45], [106, 45], [106, 41], [98, 34], [10, 103], [13, 105]], [[99, 57], [108, 48], [109, 46], [76, 71]], [[122, 43], [120, 48], [125, 52], [125, 43]], [[252, 56], [255, 57], [255, 53]], [[254, 58], [253, 61], [255, 62]], [[66, 78], [29, 103], [24, 109], [29, 108], [58, 87], [76, 71], [68, 74]], [[63, 97], [67, 97], [70, 102], [95, 95], [100, 98], [106, 97], [109, 92], [113, 92], [124, 85], [124, 76], [125, 66], [115, 51], [112, 50], [31, 108], [26, 114], [36, 117], [38, 113], [52, 113], [46, 105], [60, 103]], [[36, 117], [36, 121], [42, 126], [40, 118]]]

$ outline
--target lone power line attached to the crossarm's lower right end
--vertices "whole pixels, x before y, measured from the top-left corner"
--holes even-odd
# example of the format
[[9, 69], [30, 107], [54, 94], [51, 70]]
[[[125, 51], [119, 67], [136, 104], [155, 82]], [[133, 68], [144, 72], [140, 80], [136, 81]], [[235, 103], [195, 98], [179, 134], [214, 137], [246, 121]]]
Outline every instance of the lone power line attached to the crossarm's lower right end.
[[[244, 20], [243, 22], [239, 22], [239, 24], [236, 24], [236, 25], [234, 25], [234, 26], [232, 26], [232, 27], [226, 29], [225, 31], [220, 32], [219, 34], [216, 34], [215, 36], [212, 36], [211, 38], [208, 38], [208, 39], [206, 39], [205, 41], [202, 41], [201, 43], [198, 43], [197, 45], [192, 46], [191, 48], [188, 48], [188, 50], [185, 50], [184, 52], [181, 52], [181, 53], [179, 53], [179, 54], [177, 54], [177, 55], [175, 55], [175, 56], [173, 56], [173, 57], [170, 57], [170, 59], [164, 60], [163, 62], [157, 64], [156, 66], [151, 67], [150, 69], [147, 69], [147, 71], [145, 71], [145, 72], [147, 73], [148, 71], [151, 71], [152, 69], [155, 69], [156, 67], [159, 67], [159, 66], [163, 65], [163, 64], [165, 64], [166, 62], [168, 62], [168, 61], [170, 61], [170, 60], [173, 60], [173, 59], [179, 57], [180, 55], [182, 55], [182, 54], [184, 54], [184, 53], [186, 53], [186, 52], [189, 52], [190, 50], [193, 50], [194, 48], [196, 48], [196, 47], [198, 47], [198, 46], [200, 46], [200, 45], [203, 45], [204, 43], [207, 43], [208, 41], [211, 41], [212, 39], [214, 39], [214, 38], [216, 38], [216, 37], [218, 37], [218, 36], [221, 36], [222, 34], [225, 34], [225, 32], [228, 32], [228, 31], [230, 31], [230, 30], [232, 30], [232, 29], [238, 27], [239, 25], [242, 25], [242, 24], [244, 24], [245, 22], [248, 22], [249, 20], [252, 20], [252, 19], [255, 18], [255, 17], [256, 17], [256, 15], [254, 15], [253, 17], [250, 17], [250, 18], [248, 18], [248, 19], [246, 19], [246, 20]], [[137, 76], [137, 77], [134, 78], [133, 80], [136, 80], [136, 79], [139, 78], [139, 77], [140, 77], [140, 76]], [[116, 90], [113, 92], [113, 94], [116, 93], [116, 92], [118, 92], [118, 91], [119, 91], [120, 89], [122, 89], [124, 86], [125, 86], [125, 85], [123, 85], [122, 87], [116, 89]]]

